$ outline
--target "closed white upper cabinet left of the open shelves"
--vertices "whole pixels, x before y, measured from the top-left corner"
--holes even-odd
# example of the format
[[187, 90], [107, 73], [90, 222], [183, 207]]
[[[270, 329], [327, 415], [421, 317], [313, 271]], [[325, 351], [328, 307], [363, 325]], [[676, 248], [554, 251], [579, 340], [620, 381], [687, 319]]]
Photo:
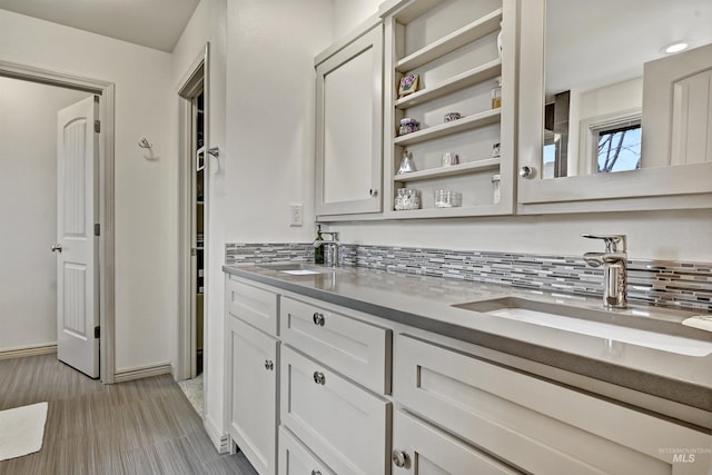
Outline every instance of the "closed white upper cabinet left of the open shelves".
[[359, 32], [315, 60], [316, 215], [382, 211], [383, 24]]

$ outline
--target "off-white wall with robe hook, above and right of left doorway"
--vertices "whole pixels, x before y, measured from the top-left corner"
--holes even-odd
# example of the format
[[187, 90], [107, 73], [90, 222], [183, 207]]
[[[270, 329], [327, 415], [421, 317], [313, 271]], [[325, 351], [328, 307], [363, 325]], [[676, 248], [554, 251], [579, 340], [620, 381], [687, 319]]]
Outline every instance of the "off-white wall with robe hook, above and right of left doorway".
[[[116, 364], [170, 362], [176, 315], [171, 55], [0, 10], [0, 59], [116, 83]], [[144, 159], [141, 137], [158, 160]]]

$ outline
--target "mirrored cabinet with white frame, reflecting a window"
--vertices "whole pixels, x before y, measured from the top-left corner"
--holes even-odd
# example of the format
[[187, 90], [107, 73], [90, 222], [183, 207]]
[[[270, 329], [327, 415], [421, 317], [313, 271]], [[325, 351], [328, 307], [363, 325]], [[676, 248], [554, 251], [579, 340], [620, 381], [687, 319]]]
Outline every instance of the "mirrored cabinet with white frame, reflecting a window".
[[[520, 202], [605, 199], [606, 209], [640, 209], [611, 200], [686, 195], [642, 207], [712, 206], [709, 184], [686, 182], [712, 170], [712, 2], [522, 8], [531, 21], [522, 26]], [[685, 50], [665, 51], [681, 42]]]

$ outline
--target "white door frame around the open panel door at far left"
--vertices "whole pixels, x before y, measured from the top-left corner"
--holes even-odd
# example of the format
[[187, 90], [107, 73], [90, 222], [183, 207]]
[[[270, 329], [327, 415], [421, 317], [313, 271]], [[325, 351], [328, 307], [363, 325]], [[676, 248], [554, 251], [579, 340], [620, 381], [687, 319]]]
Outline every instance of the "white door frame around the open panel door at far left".
[[0, 76], [23, 81], [75, 89], [99, 96], [99, 343], [100, 380], [116, 378], [115, 331], [115, 85], [98, 79], [56, 72], [17, 62], [0, 60]]

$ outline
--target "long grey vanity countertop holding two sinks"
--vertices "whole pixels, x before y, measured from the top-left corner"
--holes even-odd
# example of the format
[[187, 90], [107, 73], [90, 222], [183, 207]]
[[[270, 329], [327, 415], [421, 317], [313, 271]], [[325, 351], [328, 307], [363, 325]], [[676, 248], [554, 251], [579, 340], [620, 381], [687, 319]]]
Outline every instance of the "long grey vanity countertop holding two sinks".
[[[222, 269], [229, 275], [702, 409], [703, 420], [696, 422], [712, 427], [712, 354], [688, 356], [455, 306], [518, 297], [602, 308], [601, 299], [363, 267], [315, 275], [289, 275], [254, 265]], [[641, 311], [651, 308], [633, 307]], [[690, 335], [688, 327], [685, 331]], [[712, 343], [710, 331], [696, 330], [694, 335], [695, 339]]]

